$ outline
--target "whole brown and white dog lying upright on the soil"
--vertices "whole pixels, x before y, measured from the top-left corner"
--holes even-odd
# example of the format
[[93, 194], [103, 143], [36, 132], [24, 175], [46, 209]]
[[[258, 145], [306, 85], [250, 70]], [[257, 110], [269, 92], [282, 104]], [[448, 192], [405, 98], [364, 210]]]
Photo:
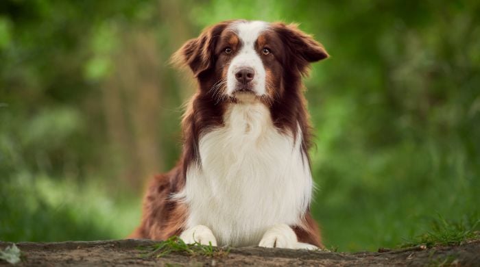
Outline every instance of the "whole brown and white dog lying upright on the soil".
[[199, 88], [182, 120], [183, 151], [149, 185], [130, 238], [315, 249], [309, 212], [311, 127], [302, 75], [328, 58], [296, 25], [224, 21], [173, 57]]

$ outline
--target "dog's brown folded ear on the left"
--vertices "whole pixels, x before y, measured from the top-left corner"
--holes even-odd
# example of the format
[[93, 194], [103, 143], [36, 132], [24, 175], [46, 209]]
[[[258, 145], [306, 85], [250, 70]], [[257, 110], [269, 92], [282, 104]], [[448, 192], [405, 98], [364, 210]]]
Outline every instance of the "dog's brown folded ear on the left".
[[218, 23], [202, 31], [197, 38], [188, 40], [176, 51], [171, 62], [179, 66], [189, 66], [195, 77], [213, 66], [215, 60], [215, 45], [221, 31], [227, 23]]

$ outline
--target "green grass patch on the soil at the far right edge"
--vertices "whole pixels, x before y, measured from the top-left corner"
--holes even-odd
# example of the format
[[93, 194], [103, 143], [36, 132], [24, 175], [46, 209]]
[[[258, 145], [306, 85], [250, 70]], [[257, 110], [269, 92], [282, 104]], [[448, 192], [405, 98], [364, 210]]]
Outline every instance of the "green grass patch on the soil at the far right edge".
[[437, 214], [437, 216], [437, 220], [432, 222], [431, 231], [405, 240], [400, 246], [456, 246], [464, 244], [468, 240], [480, 238], [480, 218], [478, 215], [470, 215], [468, 218], [457, 221], [446, 220], [440, 214]]

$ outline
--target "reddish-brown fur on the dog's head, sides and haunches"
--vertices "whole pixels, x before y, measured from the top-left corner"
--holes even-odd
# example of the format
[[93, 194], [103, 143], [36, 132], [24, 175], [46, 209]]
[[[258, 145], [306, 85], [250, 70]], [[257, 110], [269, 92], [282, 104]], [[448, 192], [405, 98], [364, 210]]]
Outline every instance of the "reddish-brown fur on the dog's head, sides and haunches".
[[[182, 120], [183, 151], [180, 161], [169, 173], [154, 177], [143, 202], [141, 225], [130, 238], [150, 238], [165, 240], [180, 235], [188, 216], [187, 207], [171, 199], [171, 194], [179, 192], [185, 184], [186, 172], [191, 164], [199, 164], [198, 142], [204, 131], [224, 125], [223, 116], [227, 105], [235, 99], [219, 97], [219, 92], [211, 90], [221, 79], [226, 78], [226, 67], [241, 42], [235, 32], [228, 29], [232, 21], [224, 21], [202, 31], [199, 37], [187, 41], [175, 55], [173, 61], [186, 65], [197, 78], [199, 90], [191, 99]], [[224, 53], [226, 47], [232, 53]], [[262, 55], [263, 48], [274, 51]], [[302, 75], [307, 75], [308, 66], [328, 57], [322, 44], [296, 27], [283, 23], [272, 23], [271, 29], [259, 36], [256, 49], [262, 55], [267, 73], [267, 99], [262, 99], [269, 107], [274, 125], [280, 131], [297, 133], [297, 125], [302, 130], [302, 150], [311, 146], [311, 126], [304, 98]], [[218, 88], [222, 90], [223, 88]], [[305, 153], [308, 155], [308, 153]], [[305, 160], [309, 160], [308, 157]], [[305, 211], [302, 225], [291, 225], [298, 241], [322, 246], [320, 231]]]

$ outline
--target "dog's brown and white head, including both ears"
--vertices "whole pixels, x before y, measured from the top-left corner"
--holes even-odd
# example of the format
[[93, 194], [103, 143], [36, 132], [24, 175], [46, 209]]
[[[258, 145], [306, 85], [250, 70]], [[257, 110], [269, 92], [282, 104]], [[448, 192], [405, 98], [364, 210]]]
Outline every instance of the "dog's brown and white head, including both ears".
[[296, 83], [308, 65], [327, 58], [322, 44], [296, 25], [226, 21], [205, 29], [176, 53], [200, 82], [200, 90], [221, 101], [272, 103]]

